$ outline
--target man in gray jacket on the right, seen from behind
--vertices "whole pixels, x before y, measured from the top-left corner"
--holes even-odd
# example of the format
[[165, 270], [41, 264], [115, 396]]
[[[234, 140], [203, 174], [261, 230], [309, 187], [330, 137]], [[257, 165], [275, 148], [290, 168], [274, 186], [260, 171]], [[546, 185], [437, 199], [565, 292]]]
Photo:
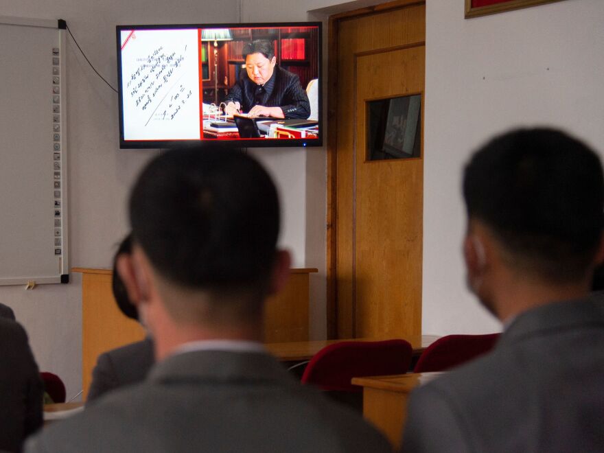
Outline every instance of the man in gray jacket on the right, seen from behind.
[[413, 391], [403, 452], [604, 450], [604, 259], [599, 157], [520, 129], [465, 167], [467, 283], [504, 326], [482, 358]]

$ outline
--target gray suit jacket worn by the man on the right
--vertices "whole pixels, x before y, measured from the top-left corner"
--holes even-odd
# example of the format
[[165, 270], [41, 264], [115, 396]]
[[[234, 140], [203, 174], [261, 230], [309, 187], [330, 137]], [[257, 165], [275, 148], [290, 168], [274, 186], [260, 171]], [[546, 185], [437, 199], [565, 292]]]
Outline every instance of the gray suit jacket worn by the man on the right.
[[604, 451], [603, 301], [525, 312], [487, 356], [418, 388], [403, 451]]

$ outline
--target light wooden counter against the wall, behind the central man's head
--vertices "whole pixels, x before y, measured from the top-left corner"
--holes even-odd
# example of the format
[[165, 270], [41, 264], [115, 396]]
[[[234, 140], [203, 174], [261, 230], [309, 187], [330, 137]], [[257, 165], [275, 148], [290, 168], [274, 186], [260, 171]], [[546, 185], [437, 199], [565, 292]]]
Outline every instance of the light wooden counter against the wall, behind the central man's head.
[[[119, 311], [111, 292], [111, 270], [82, 272], [82, 388], [86, 399], [97, 357], [110, 349], [142, 340], [143, 328]], [[266, 342], [308, 340], [308, 281], [314, 268], [292, 269], [286, 287], [266, 302]]]

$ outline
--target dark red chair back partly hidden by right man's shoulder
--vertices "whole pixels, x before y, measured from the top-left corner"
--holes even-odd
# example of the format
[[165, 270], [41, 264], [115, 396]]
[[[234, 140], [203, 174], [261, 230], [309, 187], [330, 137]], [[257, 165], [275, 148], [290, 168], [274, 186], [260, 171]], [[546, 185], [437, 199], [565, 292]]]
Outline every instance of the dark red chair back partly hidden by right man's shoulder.
[[444, 371], [472, 360], [493, 349], [499, 335], [443, 336], [421, 353], [417, 364], [415, 364], [413, 373]]

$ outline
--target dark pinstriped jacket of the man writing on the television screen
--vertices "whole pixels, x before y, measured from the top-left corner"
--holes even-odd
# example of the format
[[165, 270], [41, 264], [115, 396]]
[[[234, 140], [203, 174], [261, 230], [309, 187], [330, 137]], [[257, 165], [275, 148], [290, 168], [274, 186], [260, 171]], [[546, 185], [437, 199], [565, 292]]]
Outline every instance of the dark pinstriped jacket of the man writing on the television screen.
[[290, 73], [290, 71], [275, 66], [272, 77], [264, 84], [260, 102], [255, 100], [257, 89], [256, 82], [250, 80], [247, 74], [244, 73], [231, 88], [224, 102], [227, 104], [231, 101], [239, 102], [242, 111], [246, 113], [253, 106], [261, 105], [281, 107], [286, 118], [307, 119], [310, 116], [310, 102], [308, 102], [306, 91], [302, 88], [298, 76]]

